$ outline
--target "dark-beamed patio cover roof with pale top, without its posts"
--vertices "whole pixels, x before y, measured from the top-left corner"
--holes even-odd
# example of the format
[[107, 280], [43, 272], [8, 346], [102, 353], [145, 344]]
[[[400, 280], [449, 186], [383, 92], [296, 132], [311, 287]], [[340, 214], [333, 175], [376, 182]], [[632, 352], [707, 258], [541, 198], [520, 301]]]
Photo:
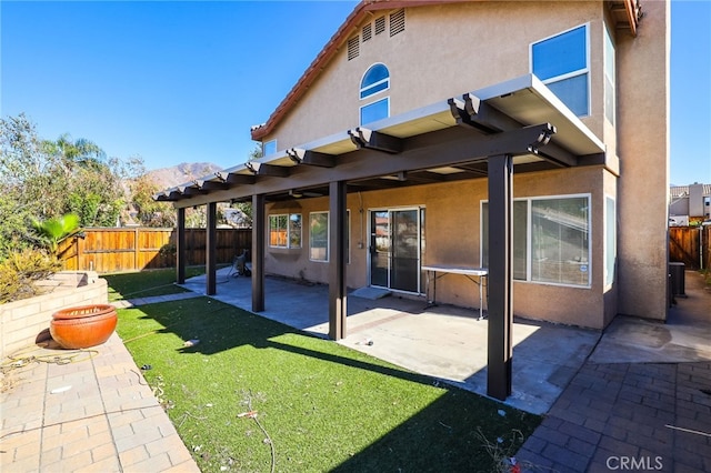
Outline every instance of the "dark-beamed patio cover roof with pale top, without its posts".
[[[487, 157], [515, 172], [600, 164], [604, 145], [542, 82], [524, 76], [357, 127], [177, 185], [156, 200], [186, 208], [221, 201], [328, 195], [485, 178]], [[387, 159], [383, 159], [383, 155]]]

